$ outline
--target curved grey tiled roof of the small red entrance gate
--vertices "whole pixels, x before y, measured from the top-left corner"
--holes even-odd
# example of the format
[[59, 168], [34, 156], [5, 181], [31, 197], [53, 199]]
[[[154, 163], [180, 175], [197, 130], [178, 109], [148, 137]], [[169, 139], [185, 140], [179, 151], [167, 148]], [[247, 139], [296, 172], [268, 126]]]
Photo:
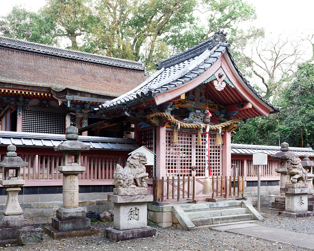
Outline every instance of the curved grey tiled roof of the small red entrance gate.
[[226, 52], [243, 82], [269, 105], [274, 110], [273, 112], [280, 111], [280, 107], [271, 104], [249, 83], [241, 69], [236, 65], [236, 60], [232, 56], [233, 52], [230, 51], [230, 44], [225, 38], [226, 35], [227, 33], [224, 33], [223, 30], [219, 30], [210, 39], [177, 55], [161, 60], [156, 64], [158, 71], [146, 81], [124, 95], [100, 105], [95, 110], [102, 113], [121, 109], [123, 105], [131, 107], [136, 103], [154, 98], [159, 93], [178, 88], [202, 75]]

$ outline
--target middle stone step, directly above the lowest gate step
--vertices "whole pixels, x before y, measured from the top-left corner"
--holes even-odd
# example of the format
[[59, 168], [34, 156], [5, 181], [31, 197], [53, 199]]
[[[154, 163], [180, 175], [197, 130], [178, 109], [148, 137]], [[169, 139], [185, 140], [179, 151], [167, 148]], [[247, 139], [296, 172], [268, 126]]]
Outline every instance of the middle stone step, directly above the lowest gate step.
[[246, 208], [244, 207], [235, 207], [235, 208], [225, 208], [219, 210], [206, 210], [206, 211], [186, 211], [185, 213], [189, 218], [210, 218], [213, 216], [225, 216], [225, 215], [235, 215], [235, 214], [246, 214]]

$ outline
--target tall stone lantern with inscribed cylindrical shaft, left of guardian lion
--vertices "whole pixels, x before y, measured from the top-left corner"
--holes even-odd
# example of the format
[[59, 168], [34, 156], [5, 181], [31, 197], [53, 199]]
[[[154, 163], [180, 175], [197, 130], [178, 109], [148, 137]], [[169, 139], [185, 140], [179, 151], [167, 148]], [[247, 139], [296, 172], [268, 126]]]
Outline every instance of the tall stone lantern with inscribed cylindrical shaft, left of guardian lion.
[[98, 234], [97, 229], [90, 227], [84, 209], [78, 207], [78, 174], [85, 171], [81, 166], [81, 152], [89, 150], [90, 146], [78, 141], [75, 126], [67, 127], [66, 134], [67, 140], [55, 147], [55, 151], [63, 152], [62, 166], [58, 167], [63, 174], [63, 207], [57, 210], [57, 217], [52, 218], [51, 227], [44, 228], [44, 232], [54, 239]]

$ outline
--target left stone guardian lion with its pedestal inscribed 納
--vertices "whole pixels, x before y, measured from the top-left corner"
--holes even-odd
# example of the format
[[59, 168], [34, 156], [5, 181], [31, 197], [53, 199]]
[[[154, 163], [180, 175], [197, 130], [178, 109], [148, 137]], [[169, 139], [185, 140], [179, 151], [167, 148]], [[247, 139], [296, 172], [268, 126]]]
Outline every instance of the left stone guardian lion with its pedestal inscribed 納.
[[117, 165], [113, 176], [116, 188], [108, 195], [114, 205], [113, 228], [105, 229], [106, 238], [118, 242], [157, 235], [156, 228], [147, 226], [147, 202], [153, 195], [147, 194], [146, 163], [143, 153], [135, 153], [127, 159], [125, 168]]

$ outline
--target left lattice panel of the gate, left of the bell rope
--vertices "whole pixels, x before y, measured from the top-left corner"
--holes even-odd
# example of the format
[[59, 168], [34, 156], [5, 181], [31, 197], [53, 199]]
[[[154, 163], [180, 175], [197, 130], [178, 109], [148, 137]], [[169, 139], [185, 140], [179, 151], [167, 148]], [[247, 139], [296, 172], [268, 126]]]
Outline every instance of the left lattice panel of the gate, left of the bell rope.
[[166, 132], [167, 176], [190, 176], [192, 163], [192, 134], [178, 132], [178, 144], [171, 143], [172, 133]]

